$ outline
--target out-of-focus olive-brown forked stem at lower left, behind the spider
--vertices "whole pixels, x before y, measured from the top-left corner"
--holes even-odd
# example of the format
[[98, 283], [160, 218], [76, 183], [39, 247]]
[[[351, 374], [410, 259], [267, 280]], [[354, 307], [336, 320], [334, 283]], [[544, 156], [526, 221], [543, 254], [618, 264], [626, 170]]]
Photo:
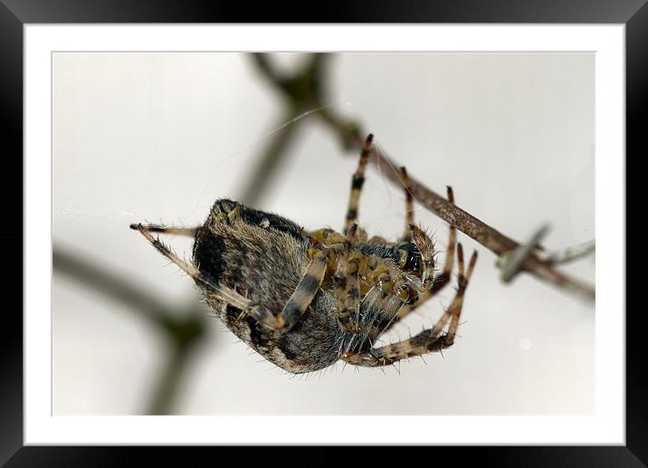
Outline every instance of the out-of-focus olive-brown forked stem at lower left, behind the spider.
[[129, 310], [138, 313], [157, 330], [164, 332], [170, 345], [169, 355], [158, 382], [153, 387], [148, 414], [171, 414], [183, 371], [187, 368], [195, 345], [205, 334], [204, 310], [195, 301], [185, 307], [169, 307], [156, 296], [145, 292], [145, 288], [58, 245], [54, 245], [52, 249], [52, 266], [54, 272], [62, 273], [109, 299], [126, 304]]

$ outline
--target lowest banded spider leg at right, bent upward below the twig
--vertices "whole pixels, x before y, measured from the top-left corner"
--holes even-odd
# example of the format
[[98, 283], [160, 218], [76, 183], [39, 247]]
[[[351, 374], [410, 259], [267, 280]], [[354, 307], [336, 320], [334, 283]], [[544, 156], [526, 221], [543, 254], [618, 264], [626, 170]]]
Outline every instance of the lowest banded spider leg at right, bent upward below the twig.
[[[355, 366], [380, 367], [393, 364], [404, 358], [422, 356], [453, 346], [454, 337], [459, 326], [459, 318], [462, 313], [463, 294], [466, 291], [475, 263], [477, 262], [477, 252], [474, 252], [468, 265], [468, 271], [464, 276], [463, 250], [461, 244], [457, 246], [457, 253], [459, 257], [459, 286], [450, 307], [445, 310], [441, 319], [434, 324], [432, 329], [423, 330], [410, 339], [405, 339], [380, 348], [369, 349], [365, 353], [348, 353], [342, 359]], [[450, 322], [448, 331], [441, 334], [448, 322]]]

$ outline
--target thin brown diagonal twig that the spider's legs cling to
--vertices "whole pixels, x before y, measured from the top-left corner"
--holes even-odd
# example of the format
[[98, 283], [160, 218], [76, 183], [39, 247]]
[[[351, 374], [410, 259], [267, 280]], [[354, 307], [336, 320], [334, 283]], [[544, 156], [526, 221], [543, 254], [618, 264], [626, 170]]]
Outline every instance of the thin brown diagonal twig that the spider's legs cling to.
[[[324, 60], [324, 56], [328, 54], [315, 53], [311, 62], [316, 60]], [[318, 56], [322, 56], [317, 59]], [[284, 96], [289, 100], [293, 99], [294, 92], [290, 86], [286, 85], [285, 79], [277, 72], [274, 72], [271, 64], [264, 54], [253, 54], [254, 62], [258, 65], [258, 70], [262, 76], [271, 82], [276, 89], [280, 90]], [[319, 98], [322, 94], [322, 76], [319, 76], [317, 81], [310, 81], [313, 89], [306, 94]], [[302, 91], [304, 92], [304, 91]], [[296, 98], [296, 96], [295, 96]], [[310, 101], [311, 108], [320, 108], [322, 100], [315, 99]], [[367, 132], [361, 129], [357, 123], [348, 119], [343, 119], [335, 111], [330, 108], [322, 109], [317, 112], [319, 118], [331, 129], [334, 134], [340, 139], [345, 148], [354, 148], [360, 151], [364, 143], [364, 136]], [[387, 156], [386, 152], [381, 148], [379, 151], [374, 147], [370, 160], [382, 170], [382, 173], [391, 180], [396, 186], [403, 187], [404, 181], [401, 179], [400, 171], [396, 167], [401, 165], [395, 162], [394, 159]], [[482, 244], [484, 247], [496, 253], [498, 256], [505, 255], [504, 263], [506, 263], [506, 256], [523, 248], [520, 244], [510, 239], [510, 237], [501, 234], [490, 225], [483, 223], [477, 217], [462, 210], [457, 205], [450, 204], [443, 196], [438, 195], [432, 189], [424, 186], [421, 182], [411, 177], [412, 194], [419, 203], [424, 205], [428, 210], [439, 216], [445, 222], [454, 224], [457, 229], [462, 231], [463, 234], [472, 237], [475, 241]], [[557, 288], [577, 293], [578, 295], [586, 298], [588, 301], [594, 301], [596, 291], [594, 286], [580, 282], [577, 279], [571, 278], [563, 272], [558, 272], [553, 263], [547, 260], [541, 260], [532, 252], [533, 249], [526, 249], [528, 251], [523, 258], [519, 259], [519, 271], [528, 272], [529, 274], [539, 278], [542, 281], [549, 282]], [[509, 271], [508, 274], [513, 274]]]

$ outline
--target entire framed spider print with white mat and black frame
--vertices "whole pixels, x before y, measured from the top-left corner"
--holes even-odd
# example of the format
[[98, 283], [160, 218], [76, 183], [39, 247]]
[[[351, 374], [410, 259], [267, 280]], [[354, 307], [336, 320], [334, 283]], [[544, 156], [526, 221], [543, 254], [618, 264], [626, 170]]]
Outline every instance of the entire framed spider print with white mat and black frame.
[[[10, 463], [58, 444], [645, 459], [623, 249], [645, 6], [192, 25], [6, 4]], [[541, 446], [560, 444], [581, 447]]]

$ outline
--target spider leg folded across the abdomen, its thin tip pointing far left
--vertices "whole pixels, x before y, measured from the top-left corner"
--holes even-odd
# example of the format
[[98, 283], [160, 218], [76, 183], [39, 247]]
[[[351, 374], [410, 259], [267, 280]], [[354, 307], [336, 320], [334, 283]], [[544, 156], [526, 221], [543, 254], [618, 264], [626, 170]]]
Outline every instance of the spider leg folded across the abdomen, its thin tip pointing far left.
[[197, 283], [204, 286], [221, 301], [224, 301], [236, 309], [243, 311], [243, 315], [249, 315], [257, 320], [269, 330], [278, 330], [285, 333], [300, 320], [301, 316], [308, 309], [310, 302], [319, 291], [319, 285], [324, 279], [326, 273], [328, 254], [321, 249], [311, 248], [309, 255], [311, 257], [307, 272], [304, 274], [291, 298], [278, 315], [272, 314], [272, 311], [263, 307], [262, 304], [254, 303], [232, 289], [214, 284], [201, 273], [195, 266], [186, 263], [180, 259], [166, 244], [153, 237], [148, 228], [142, 224], [137, 225], [137, 230], [142, 234], [150, 244], [152, 244], [159, 253], [165, 255], [171, 262], [176, 263], [183, 272], [186, 272]]

